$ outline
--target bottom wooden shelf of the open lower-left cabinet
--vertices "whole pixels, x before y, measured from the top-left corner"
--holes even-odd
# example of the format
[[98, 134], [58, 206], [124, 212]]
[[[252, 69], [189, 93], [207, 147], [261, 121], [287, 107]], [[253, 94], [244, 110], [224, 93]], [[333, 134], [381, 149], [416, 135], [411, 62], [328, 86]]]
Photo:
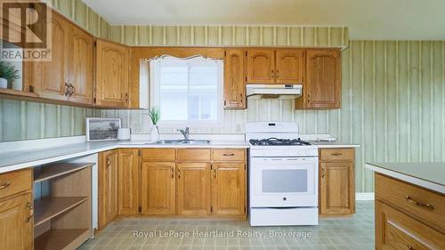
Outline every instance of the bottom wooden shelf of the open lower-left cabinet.
[[34, 239], [36, 250], [76, 249], [83, 244], [91, 233], [88, 229], [80, 230], [48, 230]]

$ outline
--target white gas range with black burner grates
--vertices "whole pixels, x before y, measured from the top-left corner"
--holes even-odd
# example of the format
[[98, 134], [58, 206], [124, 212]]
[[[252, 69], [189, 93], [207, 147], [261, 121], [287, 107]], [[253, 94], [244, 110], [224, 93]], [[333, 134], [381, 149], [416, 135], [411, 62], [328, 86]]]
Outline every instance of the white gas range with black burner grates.
[[318, 225], [318, 149], [290, 122], [247, 124], [251, 226]]

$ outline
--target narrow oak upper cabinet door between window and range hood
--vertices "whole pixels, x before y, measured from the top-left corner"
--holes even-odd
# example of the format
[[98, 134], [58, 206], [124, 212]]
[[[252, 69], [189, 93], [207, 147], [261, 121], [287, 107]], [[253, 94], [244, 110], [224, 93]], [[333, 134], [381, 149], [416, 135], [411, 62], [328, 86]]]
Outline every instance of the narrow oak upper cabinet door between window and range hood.
[[224, 108], [246, 109], [246, 63], [243, 50], [226, 50], [224, 59]]

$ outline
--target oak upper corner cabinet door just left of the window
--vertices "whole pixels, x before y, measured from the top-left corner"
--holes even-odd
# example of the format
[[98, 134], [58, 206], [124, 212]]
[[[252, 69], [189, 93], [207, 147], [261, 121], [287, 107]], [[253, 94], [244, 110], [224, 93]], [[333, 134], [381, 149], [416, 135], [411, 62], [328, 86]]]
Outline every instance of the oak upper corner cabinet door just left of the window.
[[130, 50], [127, 46], [97, 40], [95, 103], [106, 107], [128, 106]]

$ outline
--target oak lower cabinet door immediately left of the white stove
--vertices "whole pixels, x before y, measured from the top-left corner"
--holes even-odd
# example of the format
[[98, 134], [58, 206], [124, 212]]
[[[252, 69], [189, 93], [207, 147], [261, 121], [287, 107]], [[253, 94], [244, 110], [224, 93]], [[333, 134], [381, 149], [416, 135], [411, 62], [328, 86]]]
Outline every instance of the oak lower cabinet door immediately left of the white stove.
[[213, 214], [245, 214], [244, 163], [215, 163], [212, 171]]

